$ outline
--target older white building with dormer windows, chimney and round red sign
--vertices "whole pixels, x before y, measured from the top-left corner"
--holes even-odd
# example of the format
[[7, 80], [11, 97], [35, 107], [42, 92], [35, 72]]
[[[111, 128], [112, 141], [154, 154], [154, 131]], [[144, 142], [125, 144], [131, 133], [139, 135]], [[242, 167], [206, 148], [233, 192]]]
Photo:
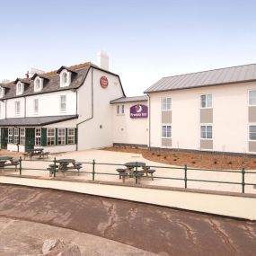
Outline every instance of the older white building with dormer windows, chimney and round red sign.
[[104, 53], [100, 63], [61, 66], [0, 84], [1, 148], [56, 153], [110, 146], [110, 101], [125, 94]]

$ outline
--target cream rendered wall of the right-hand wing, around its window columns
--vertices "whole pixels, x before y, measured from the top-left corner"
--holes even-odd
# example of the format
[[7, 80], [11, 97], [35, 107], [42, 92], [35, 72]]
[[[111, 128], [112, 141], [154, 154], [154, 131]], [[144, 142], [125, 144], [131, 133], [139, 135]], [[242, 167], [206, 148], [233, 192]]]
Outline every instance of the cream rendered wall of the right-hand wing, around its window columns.
[[172, 98], [172, 147], [199, 150], [199, 96], [212, 93], [213, 150], [248, 151], [248, 92], [256, 83], [226, 84], [189, 90], [151, 93], [151, 146], [161, 145], [161, 98]]

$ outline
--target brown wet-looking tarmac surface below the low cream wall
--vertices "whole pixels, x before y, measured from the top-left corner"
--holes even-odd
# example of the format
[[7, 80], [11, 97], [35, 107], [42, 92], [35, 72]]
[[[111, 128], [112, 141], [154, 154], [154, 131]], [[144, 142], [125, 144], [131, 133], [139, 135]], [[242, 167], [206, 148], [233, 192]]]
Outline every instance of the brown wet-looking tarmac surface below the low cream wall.
[[[0, 195], [2, 218], [93, 234], [162, 256], [256, 253], [255, 222], [14, 185], [0, 184]], [[17, 225], [13, 236], [20, 230]]]

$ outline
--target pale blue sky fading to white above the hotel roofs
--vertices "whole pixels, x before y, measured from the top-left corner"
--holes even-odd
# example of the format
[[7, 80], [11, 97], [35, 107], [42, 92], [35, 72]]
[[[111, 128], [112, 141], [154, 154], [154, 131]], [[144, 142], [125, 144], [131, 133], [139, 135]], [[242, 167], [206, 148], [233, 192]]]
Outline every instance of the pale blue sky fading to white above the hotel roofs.
[[127, 96], [163, 76], [256, 63], [255, 0], [0, 0], [0, 81], [110, 57]]

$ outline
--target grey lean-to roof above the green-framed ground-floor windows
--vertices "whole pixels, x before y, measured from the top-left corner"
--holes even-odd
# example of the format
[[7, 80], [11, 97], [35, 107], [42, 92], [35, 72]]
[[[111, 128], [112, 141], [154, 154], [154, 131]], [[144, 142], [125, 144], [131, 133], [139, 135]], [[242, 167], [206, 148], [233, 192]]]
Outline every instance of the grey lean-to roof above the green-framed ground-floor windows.
[[31, 127], [45, 126], [66, 120], [77, 119], [76, 115], [36, 117], [36, 118], [17, 118], [17, 119], [0, 119], [0, 127]]

